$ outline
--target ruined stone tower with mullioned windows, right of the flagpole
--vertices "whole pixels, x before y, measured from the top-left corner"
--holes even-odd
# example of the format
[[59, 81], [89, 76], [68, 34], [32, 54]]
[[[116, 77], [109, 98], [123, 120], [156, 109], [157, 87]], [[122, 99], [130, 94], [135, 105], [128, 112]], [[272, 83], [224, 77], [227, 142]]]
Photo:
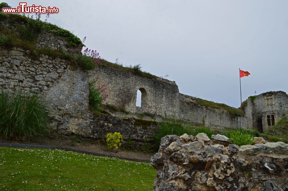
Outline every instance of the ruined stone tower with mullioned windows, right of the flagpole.
[[[267, 103], [266, 98], [272, 97], [273, 102]], [[275, 115], [275, 124], [281, 119], [286, 112], [288, 112], [288, 96], [285, 92], [267, 92], [257, 95], [257, 97], [251, 103], [252, 116], [253, 116], [253, 128], [257, 130], [258, 121], [262, 121], [263, 131], [269, 129], [267, 122], [267, 115]]]

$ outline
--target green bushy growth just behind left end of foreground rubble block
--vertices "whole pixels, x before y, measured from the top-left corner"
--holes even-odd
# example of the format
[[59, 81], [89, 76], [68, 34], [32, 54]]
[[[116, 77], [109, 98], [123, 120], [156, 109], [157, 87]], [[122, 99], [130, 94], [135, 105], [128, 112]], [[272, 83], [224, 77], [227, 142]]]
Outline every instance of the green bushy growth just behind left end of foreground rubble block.
[[157, 148], [160, 146], [161, 138], [166, 135], [181, 136], [185, 133], [192, 135], [194, 131], [191, 126], [184, 124], [183, 119], [177, 120], [175, 117], [158, 123], [158, 127], [158, 133], [154, 135], [154, 144]]

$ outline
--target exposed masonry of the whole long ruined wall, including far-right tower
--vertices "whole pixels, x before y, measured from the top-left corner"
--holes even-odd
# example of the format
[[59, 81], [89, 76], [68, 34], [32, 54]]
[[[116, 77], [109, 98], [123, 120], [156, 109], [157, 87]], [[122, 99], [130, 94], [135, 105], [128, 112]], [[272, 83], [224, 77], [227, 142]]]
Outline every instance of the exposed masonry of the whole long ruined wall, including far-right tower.
[[[0, 24], [10, 30], [15, 30], [19, 25], [11, 25], [5, 21], [0, 21]], [[74, 49], [65, 37], [47, 31], [38, 35], [35, 47], [50, 47], [60, 51]], [[107, 102], [125, 107], [131, 111], [130, 114], [114, 112], [114, 118], [99, 118], [90, 111], [88, 82], [96, 80], [97, 77], [95, 85], [105, 84], [107, 87]], [[265, 115], [275, 114], [276, 122], [284, 111], [288, 111], [285, 92], [272, 95], [274, 105], [258, 103], [258, 100], [264, 99], [261, 96], [257, 96], [253, 103], [248, 100], [246, 116], [235, 116], [223, 109], [198, 105], [192, 97], [180, 94], [177, 84], [169, 80], [147, 78], [107, 66], [84, 72], [77, 63], [64, 59], [53, 59], [47, 55], [39, 55], [39, 59], [35, 59], [28, 50], [0, 47], [0, 86], [12, 91], [18, 85], [25, 90], [43, 94], [50, 106], [52, 130], [59, 134], [77, 134], [90, 138], [104, 138], [108, 132], [117, 131], [126, 140], [149, 142], [156, 131], [155, 124], [144, 127], [133, 119], [148, 111], [157, 113], [156, 120], [161, 120], [161, 117], [183, 117], [187, 121], [216, 129], [255, 128], [254, 122], [258, 114], [262, 115], [264, 124], [267, 121]], [[139, 89], [143, 94], [141, 107], [136, 106]], [[266, 110], [259, 109], [261, 107]], [[129, 122], [121, 122], [118, 117], [131, 119]], [[112, 119], [118, 122], [114, 123]], [[265, 125], [263, 130], [267, 130]]]

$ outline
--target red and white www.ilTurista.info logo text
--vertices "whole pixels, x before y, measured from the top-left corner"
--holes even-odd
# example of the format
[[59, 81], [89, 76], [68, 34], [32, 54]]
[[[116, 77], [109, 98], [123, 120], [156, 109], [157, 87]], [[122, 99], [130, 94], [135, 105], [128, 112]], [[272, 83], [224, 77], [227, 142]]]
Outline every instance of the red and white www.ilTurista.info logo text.
[[16, 8], [11, 8], [11, 7], [3, 7], [2, 11], [3, 13], [41, 13], [41, 14], [53, 14], [53, 13], [59, 13], [59, 8], [57, 7], [43, 7], [41, 5], [32, 5], [32, 6], [26, 6], [26, 2], [20, 2], [20, 6]]

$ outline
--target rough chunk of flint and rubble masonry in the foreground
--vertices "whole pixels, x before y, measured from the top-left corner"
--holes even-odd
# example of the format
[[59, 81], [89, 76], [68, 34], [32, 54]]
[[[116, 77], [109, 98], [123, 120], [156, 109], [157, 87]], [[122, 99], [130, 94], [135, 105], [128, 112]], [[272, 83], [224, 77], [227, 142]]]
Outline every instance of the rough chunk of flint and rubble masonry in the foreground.
[[157, 170], [154, 191], [288, 190], [288, 144], [224, 146], [217, 139], [226, 141], [203, 134], [162, 138], [151, 157]]

